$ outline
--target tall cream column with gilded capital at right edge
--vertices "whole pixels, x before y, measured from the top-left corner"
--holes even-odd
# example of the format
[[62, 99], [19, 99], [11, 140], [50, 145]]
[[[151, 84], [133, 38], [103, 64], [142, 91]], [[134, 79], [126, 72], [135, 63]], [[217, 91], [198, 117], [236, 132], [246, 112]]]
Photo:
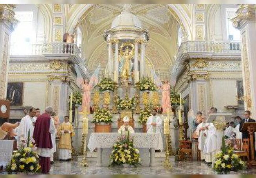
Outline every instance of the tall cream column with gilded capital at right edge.
[[241, 4], [232, 20], [234, 27], [241, 32], [241, 60], [245, 110], [256, 117], [256, 20], [254, 4]]

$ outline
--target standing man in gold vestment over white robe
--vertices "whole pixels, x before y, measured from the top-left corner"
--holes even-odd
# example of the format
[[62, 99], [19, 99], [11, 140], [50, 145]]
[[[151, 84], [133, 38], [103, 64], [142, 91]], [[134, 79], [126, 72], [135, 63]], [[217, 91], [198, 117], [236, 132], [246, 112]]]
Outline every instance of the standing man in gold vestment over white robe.
[[74, 128], [69, 122], [68, 116], [64, 117], [64, 122], [59, 126], [59, 159], [60, 161], [70, 161], [72, 158], [72, 137], [75, 135]]

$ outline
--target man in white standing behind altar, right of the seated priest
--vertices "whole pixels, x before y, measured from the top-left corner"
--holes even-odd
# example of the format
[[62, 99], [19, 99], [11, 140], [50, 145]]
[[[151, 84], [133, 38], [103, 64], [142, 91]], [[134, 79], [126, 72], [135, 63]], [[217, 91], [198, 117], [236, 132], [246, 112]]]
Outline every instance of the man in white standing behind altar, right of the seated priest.
[[161, 133], [162, 119], [156, 114], [157, 110], [153, 110], [152, 116], [147, 119], [147, 133]]

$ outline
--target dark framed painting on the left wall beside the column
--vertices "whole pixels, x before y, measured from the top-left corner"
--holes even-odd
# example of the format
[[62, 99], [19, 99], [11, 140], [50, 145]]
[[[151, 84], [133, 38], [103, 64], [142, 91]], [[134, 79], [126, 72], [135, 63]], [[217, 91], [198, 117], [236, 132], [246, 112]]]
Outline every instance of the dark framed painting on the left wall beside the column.
[[11, 106], [22, 106], [23, 100], [23, 83], [9, 82], [7, 84], [6, 98], [11, 101]]

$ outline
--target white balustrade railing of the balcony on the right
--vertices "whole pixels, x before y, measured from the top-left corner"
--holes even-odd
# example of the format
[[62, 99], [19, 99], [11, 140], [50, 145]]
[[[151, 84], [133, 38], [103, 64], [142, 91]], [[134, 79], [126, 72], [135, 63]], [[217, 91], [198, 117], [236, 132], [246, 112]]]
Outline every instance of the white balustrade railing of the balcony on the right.
[[178, 56], [188, 52], [240, 53], [240, 42], [186, 41], [178, 50]]

